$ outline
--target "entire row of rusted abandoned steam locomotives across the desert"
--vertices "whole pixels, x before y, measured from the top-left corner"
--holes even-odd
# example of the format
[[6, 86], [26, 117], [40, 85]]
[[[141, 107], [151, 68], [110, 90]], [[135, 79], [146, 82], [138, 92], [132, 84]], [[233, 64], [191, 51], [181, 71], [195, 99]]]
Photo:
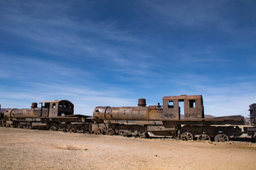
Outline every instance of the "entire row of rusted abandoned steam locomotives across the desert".
[[[181, 113], [183, 106], [183, 113]], [[181, 116], [183, 115], [183, 117]], [[4, 124], [19, 128], [45, 128], [68, 132], [91, 132], [97, 135], [149, 137], [171, 136], [181, 140], [228, 141], [243, 133], [256, 141], [256, 104], [250, 106], [250, 126], [241, 115], [205, 118], [203, 97], [166, 96], [163, 105], [146, 106], [144, 98], [135, 107], [97, 106], [93, 117], [73, 115], [70, 101], [44, 101], [41, 108], [12, 109], [4, 113]]]

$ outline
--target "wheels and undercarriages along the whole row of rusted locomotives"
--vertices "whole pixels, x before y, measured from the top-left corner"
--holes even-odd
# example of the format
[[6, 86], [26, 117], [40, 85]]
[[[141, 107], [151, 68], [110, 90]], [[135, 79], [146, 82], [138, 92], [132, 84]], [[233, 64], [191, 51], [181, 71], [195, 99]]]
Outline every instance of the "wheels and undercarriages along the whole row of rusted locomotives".
[[26, 118], [25, 120], [8, 120], [6, 127], [43, 129], [63, 132], [88, 132], [95, 135], [120, 135], [124, 137], [161, 136], [176, 137], [181, 140], [212, 140], [215, 142], [228, 142], [230, 137], [239, 137], [243, 133], [252, 135], [256, 140], [255, 128], [239, 128], [237, 125], [177, 125], [177, 122], [145, 121], [136, 123], [127, 120], [115, 120], [114, 123], [73, 122], [72, 119], [54, 118]]

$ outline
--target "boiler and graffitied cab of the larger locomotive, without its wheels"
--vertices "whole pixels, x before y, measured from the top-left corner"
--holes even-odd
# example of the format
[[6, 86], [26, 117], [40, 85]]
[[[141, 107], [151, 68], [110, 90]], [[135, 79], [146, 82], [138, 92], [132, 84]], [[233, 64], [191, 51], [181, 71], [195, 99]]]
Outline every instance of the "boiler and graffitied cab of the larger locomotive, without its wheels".
[[204, 118], [203, 97], [168, 96], [163, 98], [163, 106], [146, 107], [146, 99], [140, 98], [137, 107], [96, 107], [93, 118], [97, 123], [104, 120], [181, 120], [181, 108], [184, 104], [184, 120]]

